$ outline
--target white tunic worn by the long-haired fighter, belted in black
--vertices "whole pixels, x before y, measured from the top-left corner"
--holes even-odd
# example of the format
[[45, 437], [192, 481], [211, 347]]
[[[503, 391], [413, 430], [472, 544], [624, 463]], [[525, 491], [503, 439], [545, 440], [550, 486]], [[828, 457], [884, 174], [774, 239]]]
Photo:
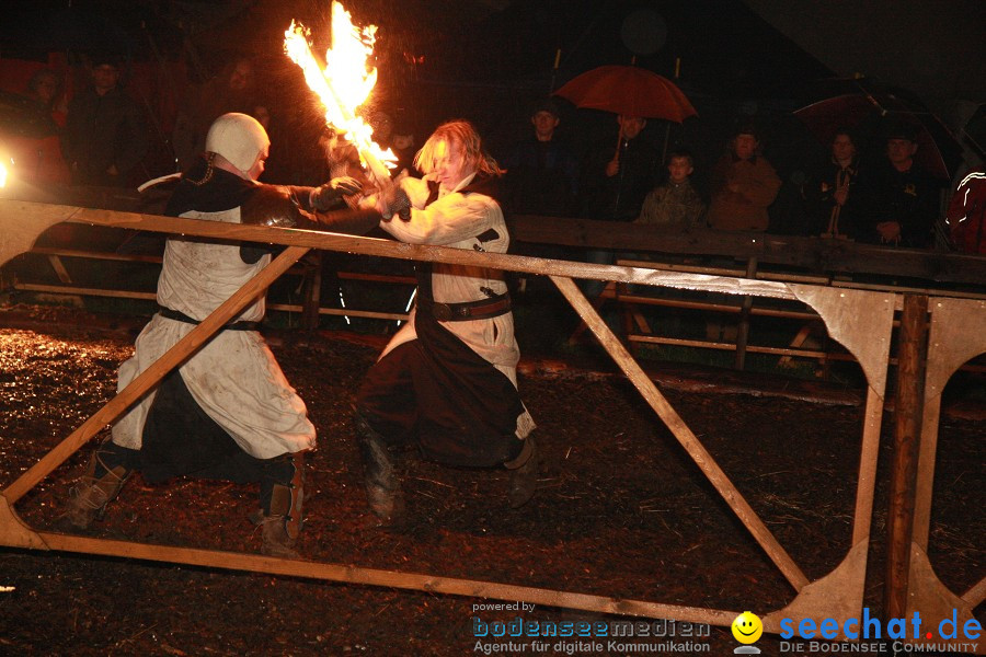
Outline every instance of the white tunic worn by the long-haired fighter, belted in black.
[[[506, 222], [500, 205], [491, 197], [480, 194], [461, 194], [459, 189], [468, 186], [474, 177], [462, 180], [455, 189], [438, 189], [438, 199], [425, 207], [429, 196], [428, 181], [424, 178], [404, 178], [401, 188], [411, 199], [411, 220], [402, 221], [394, 217], [390, 221], [381, 221], [380, 228], [409, 244], [436, 244], [455, 249], [481, 250], [489, 253], [506, 253], [511, 244]], [[497, 238], [481, 242], [481, 235], [493, 229]], [[434, 263], [432, 267], [432, 295], [439, 303], [461, 303], [479, 301], [489, 296], [483, 288], [495, 295], [503, 295], [507, 286], [497, 269], [463, 265]], [[383, 358], [398, 345], [417, 338], [414, 330], [414, 313], [410, 321], [394, 334], [383, 349]], [[456, 337], [493, 365], [517, 387], [517, 361], [520, 349], [514, 337], [514, 314], [506, 313], [486, 320], [468, 320], [461, 322], [439, 322]], [[524, 438], [535, 427], [534, 419], [525, 410], [517, 418], [517, 436]]]

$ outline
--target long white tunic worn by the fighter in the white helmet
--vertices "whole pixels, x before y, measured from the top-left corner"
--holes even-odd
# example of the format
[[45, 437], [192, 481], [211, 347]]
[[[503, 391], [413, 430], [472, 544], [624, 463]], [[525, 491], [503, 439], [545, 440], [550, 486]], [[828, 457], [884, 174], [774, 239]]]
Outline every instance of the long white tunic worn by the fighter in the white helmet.
[[[190, 211], [182, 217], [240, 223], [240, 209]], [[210, 244], [170, 239], [158, 280], [158, 303], [195, 320], [204, 320], [267, 263], [240, 257], [238, 244]], [[236, 321], [260, 321], [264, 299]], [[194, 324], [154, 315], [137, 337], [134, 357], [119, 368], [118, 390], [126, 388], [168, 349], [195, 328]], [[195, 402], [257, 459], [314, 448], [316, 431], [305, 402], [290, 387], [260, 333], [220, 331], [180, 368]], [[154, 393], [145, 396], [113, 427], [113, 441], [139, 449]]]

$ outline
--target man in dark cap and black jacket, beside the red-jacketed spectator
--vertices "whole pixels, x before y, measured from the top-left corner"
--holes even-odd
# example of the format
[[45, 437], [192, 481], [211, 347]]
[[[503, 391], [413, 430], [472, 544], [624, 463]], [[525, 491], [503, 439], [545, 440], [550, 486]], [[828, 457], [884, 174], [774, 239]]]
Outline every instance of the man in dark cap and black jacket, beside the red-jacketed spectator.
[[859, 241], [915, 249], [931, 243], [940, 186], [915, 163], [917, 148], [913, 126], [895, 123], [890, 127], [886, 157], [860, 177], [865, 205]]

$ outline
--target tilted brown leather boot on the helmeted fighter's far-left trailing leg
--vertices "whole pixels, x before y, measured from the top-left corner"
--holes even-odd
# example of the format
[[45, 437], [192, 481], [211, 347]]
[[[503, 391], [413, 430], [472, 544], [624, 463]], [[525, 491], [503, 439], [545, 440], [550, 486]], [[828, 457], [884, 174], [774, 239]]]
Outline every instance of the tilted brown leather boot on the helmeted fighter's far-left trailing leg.
[[121, 462], [126, 451], [133, 450], [107, 441], [92, 452], [85, 474], [69, 489], [65, 511], [56, 520], [59, 529], [82, 531], [89, 529], [93, 520], [102, 518], [106, 505], [116, 498], [134, 472]]

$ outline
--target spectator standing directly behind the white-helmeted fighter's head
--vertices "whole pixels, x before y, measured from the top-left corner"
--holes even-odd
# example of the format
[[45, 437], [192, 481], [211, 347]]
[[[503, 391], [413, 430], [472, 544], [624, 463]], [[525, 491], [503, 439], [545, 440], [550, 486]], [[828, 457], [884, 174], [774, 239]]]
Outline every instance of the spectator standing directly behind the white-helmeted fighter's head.
[[179, 171], [193, 164], [205, 149], [205, 137], [217, 117], [239, 112], [254, 117], [271, 129], [271, 115], [256, 80], [256, 66], [251, 57], [238, 56], [227, 62], [219, 74], [188, 89], [185, 102], [174, 119], [172, 145]]

